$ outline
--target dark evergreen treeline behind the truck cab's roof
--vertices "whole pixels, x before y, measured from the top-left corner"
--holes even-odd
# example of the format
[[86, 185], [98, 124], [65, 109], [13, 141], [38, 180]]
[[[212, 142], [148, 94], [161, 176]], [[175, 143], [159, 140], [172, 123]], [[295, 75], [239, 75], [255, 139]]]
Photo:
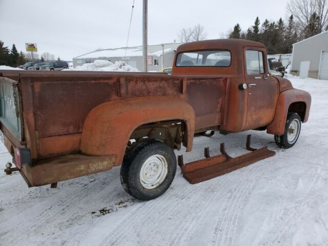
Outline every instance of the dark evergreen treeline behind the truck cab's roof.
[[242, 31], [237, 23], [229, 38], [242, 38], [260, 42], [268, 49], [268, 54], [288, 54], [293, 51], [293, 44], [298, 42], [300, 35], [294, 22], [294, 16], [291, 15], [288, 23], [284, 23], [282, 18], [277, 22], [270, 22], [265, 19], [261, 24], [260, 19], [256, 17], [254, 26]]

